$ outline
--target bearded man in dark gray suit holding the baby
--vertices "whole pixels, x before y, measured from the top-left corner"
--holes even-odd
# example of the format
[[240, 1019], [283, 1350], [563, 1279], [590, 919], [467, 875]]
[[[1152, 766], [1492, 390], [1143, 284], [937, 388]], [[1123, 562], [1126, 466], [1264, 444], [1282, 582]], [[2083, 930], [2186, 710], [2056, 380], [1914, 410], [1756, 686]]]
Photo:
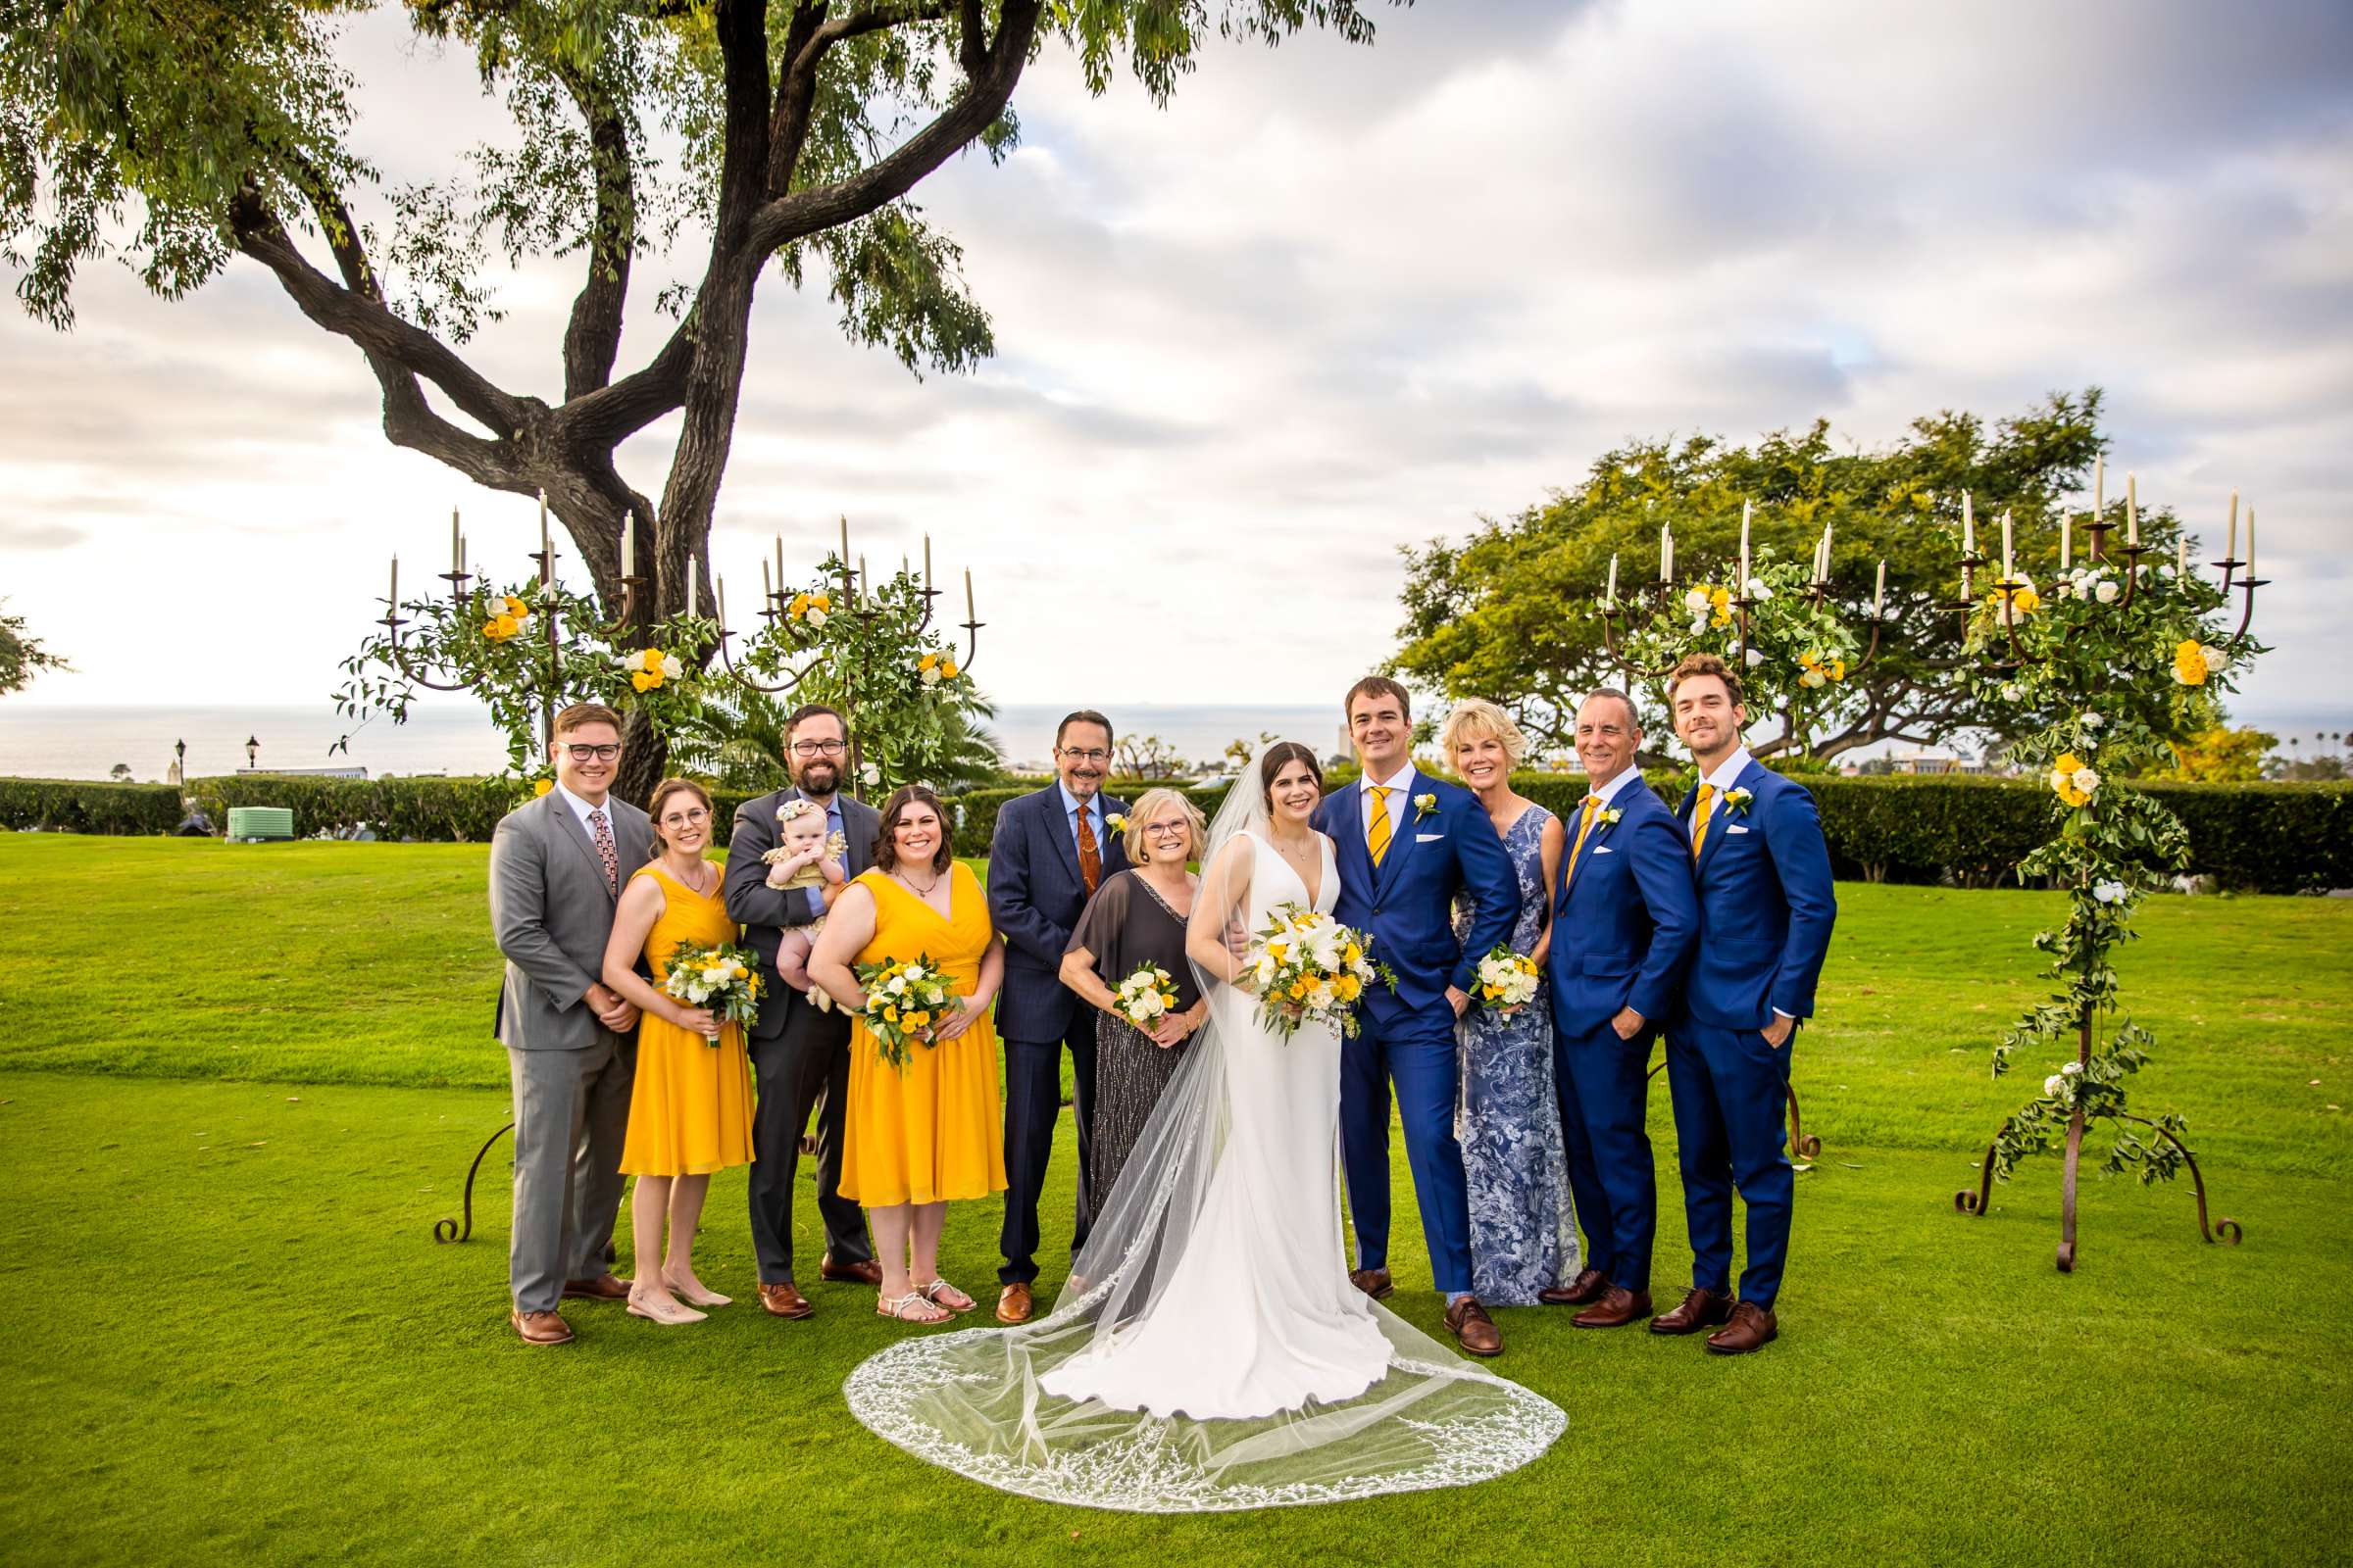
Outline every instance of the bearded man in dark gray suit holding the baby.
[[[816, 1213], [826, 1222], [819, 1279], [880, 1286], [882, 1265], [866, 1239], [866, 1211], [842, 1197], [842, 1114], [849, 1100], [849, 1020], [819, 1011], [776, 976], [776, 938], [786, 926], [819, 919], [840, 891], [873, 865], [880, 813], [842, 795], [847, 733], [842, 715], [812, 703], [786, 724], [793, 783], [736, 806], [727, 837], [727, 914], [760, 954], [767, 983], [760, 1020], [751, 1027], [751, 1070], [760, 1105], [751, 1124], [751, 1246], [760, 1260], [760, 1305], [774, 1316], [816, 1312], [793, 1284], [793, 1178], [800, 1135], [816, 1110]], [[826, 809], [826, 832], [849, 844], [847, 865], [826, 860], [826, 886], [772, 889], [760, 858], [776, 846], [776, 806], [809, 799]]]

